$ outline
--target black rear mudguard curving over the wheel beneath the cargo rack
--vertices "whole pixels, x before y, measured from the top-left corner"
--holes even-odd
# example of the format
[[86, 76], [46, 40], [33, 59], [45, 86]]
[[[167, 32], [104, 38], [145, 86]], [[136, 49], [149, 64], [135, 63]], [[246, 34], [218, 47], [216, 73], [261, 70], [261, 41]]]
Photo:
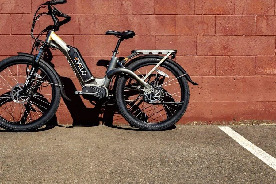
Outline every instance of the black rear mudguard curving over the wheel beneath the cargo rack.
[[[163, 56], [159, 56], [159, 55], [144, 55], [144, 56], [139, 56], [139, 57], [136, 57], [134, 59], [131, 59], [129, 62], [127, 62], [124, 67], [127, 67], [128, 65], [130, 65], [131, 63], [139, 60], [139, 59], [144, 59], [144, 58], [158, 58], [158, 59], [163, 59], [164, 57]], [[181, 70], [183, 72], [183, 74], [187, 74], [185, 75], [187, 81], [189, 81], [191, 84], [197, 86], [198, 84], [194, 81], [192, 81], [192, 79], [190, 78], [190, 76], [188, 75], [188, 73], [178, 64], [176, 63], [174, 60], [172, 59], [166, 59], [166, 61], [170, 62], [171, 64], [173, 64], [174, 66], [176, 66], [179, 70]]]

